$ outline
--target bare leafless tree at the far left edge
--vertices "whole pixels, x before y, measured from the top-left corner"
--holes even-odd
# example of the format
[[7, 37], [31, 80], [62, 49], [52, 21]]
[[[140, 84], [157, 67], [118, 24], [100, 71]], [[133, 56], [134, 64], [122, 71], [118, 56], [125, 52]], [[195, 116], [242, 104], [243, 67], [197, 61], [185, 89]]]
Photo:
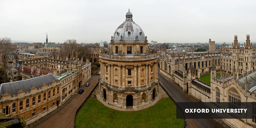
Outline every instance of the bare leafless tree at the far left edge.
[[12, 40], [11, 38], [0, 38], [0, 52], [2, 52], [0, 55], [3, 59], [4, 69], [7, 68], [7, 61], [8, 61], [8, 54], [15, 51], [15, 45], [11, 44]]

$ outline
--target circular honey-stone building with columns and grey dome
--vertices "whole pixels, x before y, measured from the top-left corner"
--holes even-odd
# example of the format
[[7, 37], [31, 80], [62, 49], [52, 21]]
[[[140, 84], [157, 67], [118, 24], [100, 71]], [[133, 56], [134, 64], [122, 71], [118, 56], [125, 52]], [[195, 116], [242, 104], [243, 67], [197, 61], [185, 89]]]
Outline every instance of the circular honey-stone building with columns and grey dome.
[[132, 19], [125, 21], [111, 37], [110, 48], [100, 55], [100, 98], [118, 108], [140, 108], [158, 98], [156, 52], [149, 51], [143, 30]]

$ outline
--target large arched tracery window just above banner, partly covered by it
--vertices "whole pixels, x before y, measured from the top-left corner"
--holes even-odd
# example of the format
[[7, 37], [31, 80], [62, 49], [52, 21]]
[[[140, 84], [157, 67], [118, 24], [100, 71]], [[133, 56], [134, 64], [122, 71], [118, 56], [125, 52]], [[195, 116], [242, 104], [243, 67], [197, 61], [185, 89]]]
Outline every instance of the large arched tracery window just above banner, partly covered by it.
[[231, 88], [228, 91], [228, 108], [240, 109], [241, 108], [241, 97], [235, 88]]

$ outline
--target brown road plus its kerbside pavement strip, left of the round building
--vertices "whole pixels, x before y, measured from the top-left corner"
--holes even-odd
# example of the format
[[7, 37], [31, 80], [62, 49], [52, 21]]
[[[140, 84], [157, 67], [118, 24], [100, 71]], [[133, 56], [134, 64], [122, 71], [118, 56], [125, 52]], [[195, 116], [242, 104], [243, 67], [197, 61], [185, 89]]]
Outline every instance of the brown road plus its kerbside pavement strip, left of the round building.
[[43, 118], [29, 124], [28, 128], [73, 128], [76, 116], [76, 110], [84, 102], [84, 100], [90, 95], [95, 86], [98, 84], [100, 76], [92, 75], [89, 79], [90, 86], [81, 86], [80, 89], [84, 89], [82, 94], [77, 94], [78, 91], [73, 94], [64, 104], [59, 108], [52, 111], [50, 114]]

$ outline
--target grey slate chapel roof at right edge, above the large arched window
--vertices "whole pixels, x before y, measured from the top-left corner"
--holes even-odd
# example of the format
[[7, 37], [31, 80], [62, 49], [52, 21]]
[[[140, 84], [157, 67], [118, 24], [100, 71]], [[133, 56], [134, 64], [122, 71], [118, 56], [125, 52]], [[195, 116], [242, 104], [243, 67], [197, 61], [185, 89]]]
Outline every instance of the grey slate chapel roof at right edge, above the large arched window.
[[[246, 75], [247, 76], [247, 83], [248, 83], [248, 90], [250, 90], [252, 87], [256, 86], [256, 71]], [[239, 78], [237, 81], [245, 87], [245, 77]]]

